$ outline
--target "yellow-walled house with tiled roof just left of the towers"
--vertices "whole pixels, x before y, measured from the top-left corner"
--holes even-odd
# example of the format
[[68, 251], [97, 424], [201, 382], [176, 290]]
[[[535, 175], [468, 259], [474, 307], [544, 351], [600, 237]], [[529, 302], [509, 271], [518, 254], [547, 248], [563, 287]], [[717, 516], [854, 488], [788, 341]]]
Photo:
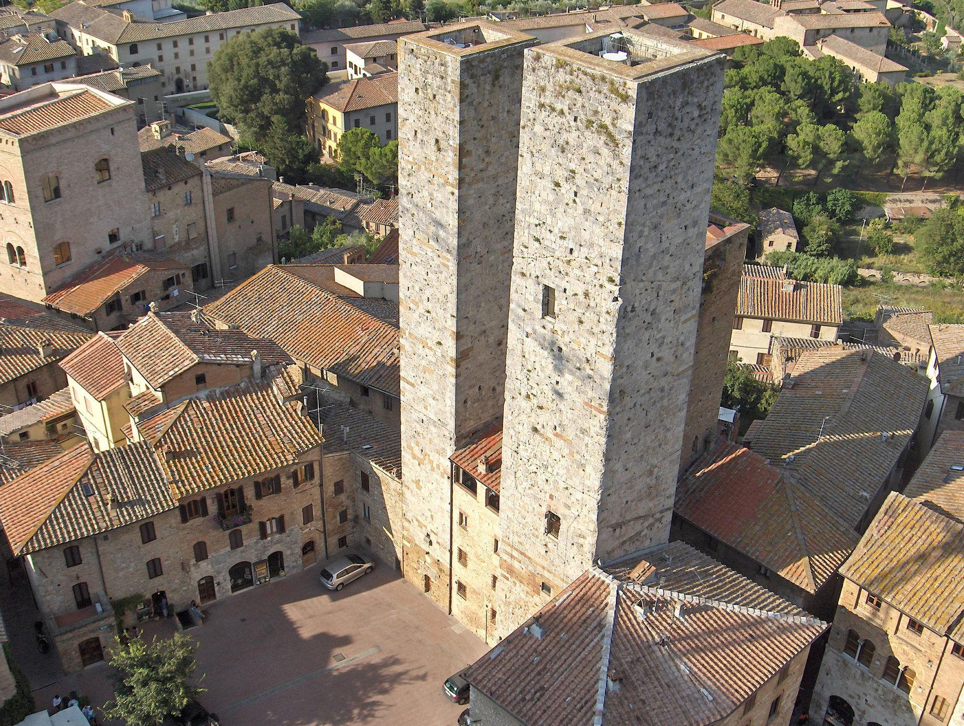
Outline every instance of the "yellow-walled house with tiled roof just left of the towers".
[[338, 157], [345, 131], [367, 128], [382, 144], [398, 139], [398, 73], [329, 83], [308, 97], [308, 138], [322, 154]]

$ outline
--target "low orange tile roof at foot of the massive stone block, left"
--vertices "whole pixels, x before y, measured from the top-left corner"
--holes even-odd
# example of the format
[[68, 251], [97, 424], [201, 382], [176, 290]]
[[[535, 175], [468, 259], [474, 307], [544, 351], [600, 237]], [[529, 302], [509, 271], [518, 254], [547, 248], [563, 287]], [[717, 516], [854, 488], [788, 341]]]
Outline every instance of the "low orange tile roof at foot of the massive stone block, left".
[[77, 315], [93, 315], [120, 290], [151, 270], [188, 272], [188, 267], [174, 259], [150, 259], [137, 255], [110, 255], [75, 275], [54, 290], [43, 302], [56, 309]]

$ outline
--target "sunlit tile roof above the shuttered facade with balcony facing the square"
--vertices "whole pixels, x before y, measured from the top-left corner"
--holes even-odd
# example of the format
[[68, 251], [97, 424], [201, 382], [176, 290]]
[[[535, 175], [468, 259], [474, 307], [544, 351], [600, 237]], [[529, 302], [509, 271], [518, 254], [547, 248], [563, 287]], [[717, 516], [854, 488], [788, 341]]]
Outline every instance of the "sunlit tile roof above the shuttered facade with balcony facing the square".
[[302, 403], [284, 403], [271, 378], [204, 390], [137, 424], [176, 497], [289, 467], [322, 443]]

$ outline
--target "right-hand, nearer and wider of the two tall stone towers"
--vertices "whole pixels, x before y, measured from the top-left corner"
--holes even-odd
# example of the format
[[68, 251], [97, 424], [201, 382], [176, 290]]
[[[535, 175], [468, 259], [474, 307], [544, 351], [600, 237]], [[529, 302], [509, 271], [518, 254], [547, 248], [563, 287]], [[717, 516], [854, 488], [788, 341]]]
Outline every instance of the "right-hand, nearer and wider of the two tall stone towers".
[[645, 28], [525, 52], [500, 629], [668, 540], [724, 62]]

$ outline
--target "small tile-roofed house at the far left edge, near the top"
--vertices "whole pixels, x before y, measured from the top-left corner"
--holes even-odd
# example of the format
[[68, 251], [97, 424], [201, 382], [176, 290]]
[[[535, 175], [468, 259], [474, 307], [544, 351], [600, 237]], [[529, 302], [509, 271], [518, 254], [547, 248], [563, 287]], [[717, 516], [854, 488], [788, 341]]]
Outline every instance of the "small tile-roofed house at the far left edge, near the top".
[[0, 83], [13, 91], [76, 74], [77, 54], [67, 40], [50, 40], [35, 31], [0, 42]]

